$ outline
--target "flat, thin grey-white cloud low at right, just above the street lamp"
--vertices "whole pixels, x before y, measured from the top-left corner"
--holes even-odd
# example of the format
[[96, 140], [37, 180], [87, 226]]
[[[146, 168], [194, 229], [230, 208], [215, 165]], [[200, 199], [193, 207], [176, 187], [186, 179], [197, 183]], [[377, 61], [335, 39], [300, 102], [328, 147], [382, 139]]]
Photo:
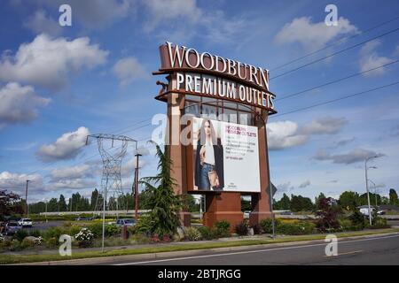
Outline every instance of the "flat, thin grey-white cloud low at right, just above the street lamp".
[[332, 160], [332, 163], [335, 164], [353, 164], [357, 162], [364, 162], [364, 159], [366, 157], [372, 157], [372, 156], [383, 156], [383, 155], [367, 149], [353, 149], [348, 153], [335, 154], [335, 155], [329, 154], [325, 150], [319, 150], [317, 151], [316, 156], [313, 158], [317, 160]]

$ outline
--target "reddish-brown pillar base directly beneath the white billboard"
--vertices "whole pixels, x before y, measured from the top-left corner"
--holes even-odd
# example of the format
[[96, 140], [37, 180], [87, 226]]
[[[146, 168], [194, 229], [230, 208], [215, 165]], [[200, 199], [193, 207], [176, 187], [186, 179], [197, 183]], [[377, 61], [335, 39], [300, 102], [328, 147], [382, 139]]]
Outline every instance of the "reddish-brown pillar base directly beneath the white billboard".
[[240, 193], [207, 194], [206, 204], [204, 226], [212, 227], [215, 222], [225, 220], [230, 223], [231, 232], [233, 232], [234, 227], [244, 219]]

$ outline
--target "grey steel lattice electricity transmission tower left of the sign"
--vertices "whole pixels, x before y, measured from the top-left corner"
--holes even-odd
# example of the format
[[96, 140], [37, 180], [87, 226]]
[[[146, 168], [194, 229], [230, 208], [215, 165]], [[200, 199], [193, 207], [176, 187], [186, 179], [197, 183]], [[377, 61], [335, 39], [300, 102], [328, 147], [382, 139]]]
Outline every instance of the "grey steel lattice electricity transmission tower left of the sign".
[[[128, 207], [119, 207], [119, 197], [123, 195], [121, 183], [121, 162], [126, 155], [129, 142], [137, 141], [125, 135], [119, 134], [90, 134], [86, 138], [86, 144], [89, 138], [96, 138], [98, 151], [103, 161], [103, 174], [101, 178], [101, 192], [103, 203], [96, 201], [95, 211], [120, 210]], [[98, 194], [99, 195], [99, 194]]]

